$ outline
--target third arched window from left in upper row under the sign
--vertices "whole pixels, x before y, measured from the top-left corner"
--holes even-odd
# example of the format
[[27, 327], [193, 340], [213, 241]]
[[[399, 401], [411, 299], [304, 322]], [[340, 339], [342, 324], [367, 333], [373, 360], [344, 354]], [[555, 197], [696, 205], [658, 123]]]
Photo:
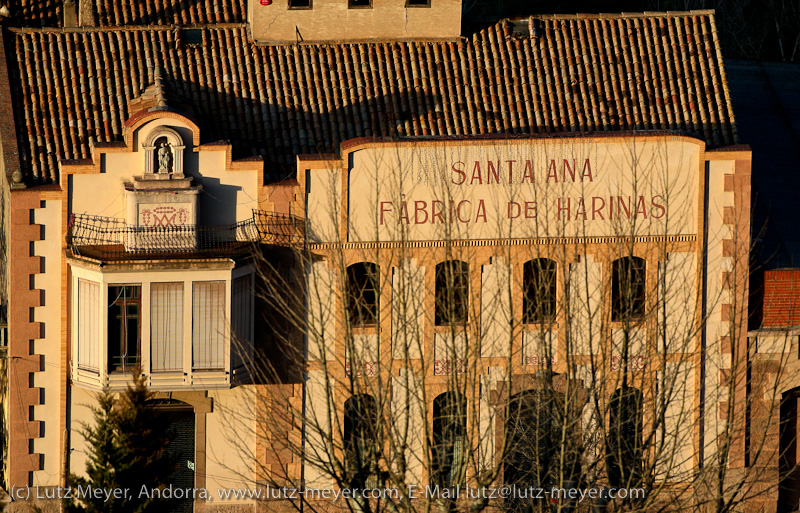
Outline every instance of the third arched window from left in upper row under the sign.
[[556, 263], [549, 258], [525, 262], [522, 269], [523, 322], [551, 322], [556, 317]]

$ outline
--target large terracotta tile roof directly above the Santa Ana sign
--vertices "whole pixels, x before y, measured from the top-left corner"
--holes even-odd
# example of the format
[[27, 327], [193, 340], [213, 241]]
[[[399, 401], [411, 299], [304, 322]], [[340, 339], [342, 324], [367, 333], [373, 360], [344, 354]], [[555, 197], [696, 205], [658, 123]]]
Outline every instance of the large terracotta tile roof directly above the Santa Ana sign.
[[284, 176], [294, 156], [344, 140], [429, 135], [681, 130], [737, 142], [709, 12], [531, 19], [456, 42], [258, 46], [244, 26], [203, 28], [184, 45], [167, 28], [16, 33], [12, 65], [23, 169], [119, 141], [130, 99], [164, 69], [170, 99]]

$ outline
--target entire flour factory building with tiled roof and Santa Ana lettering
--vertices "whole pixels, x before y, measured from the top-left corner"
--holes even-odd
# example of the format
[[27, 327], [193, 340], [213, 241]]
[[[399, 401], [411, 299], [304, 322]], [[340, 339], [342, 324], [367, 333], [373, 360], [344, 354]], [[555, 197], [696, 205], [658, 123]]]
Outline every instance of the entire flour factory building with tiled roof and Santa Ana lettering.
[[197, 511], [431, 483], [788, 507], [713, 13], [462, 35], [459, 2], [334, 3], [4, 27], [6, 488], [83, 472], [94, 394], [136, 371]]

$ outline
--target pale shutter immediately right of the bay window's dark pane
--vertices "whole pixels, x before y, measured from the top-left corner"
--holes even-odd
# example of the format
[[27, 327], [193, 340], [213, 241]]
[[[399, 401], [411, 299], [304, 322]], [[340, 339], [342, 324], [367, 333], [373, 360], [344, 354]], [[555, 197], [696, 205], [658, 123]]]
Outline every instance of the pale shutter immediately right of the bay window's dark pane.
[[183, 283], [150, 285], [150, 367], [152, 372], [183, 368]]

